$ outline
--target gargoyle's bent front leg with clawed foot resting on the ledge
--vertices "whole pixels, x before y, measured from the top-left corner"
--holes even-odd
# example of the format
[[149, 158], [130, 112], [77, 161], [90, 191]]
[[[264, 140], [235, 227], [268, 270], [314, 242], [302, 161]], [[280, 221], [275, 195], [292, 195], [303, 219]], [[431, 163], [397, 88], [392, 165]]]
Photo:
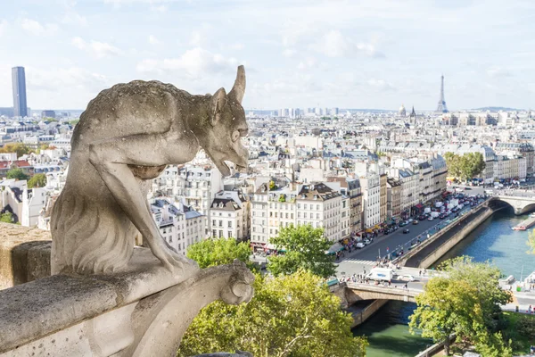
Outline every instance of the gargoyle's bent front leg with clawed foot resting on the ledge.
[[89, 146], [89, 161], [128, 218], [141, 232], [152, 253], [171, 271], [181, 269], [189, 260], [175, 252], [161, 237], [152, 220], [138, 182], [128, 165], [161, 166], [167, 155], [159, 148], [166, 147], [162, 135], [119, 137]]

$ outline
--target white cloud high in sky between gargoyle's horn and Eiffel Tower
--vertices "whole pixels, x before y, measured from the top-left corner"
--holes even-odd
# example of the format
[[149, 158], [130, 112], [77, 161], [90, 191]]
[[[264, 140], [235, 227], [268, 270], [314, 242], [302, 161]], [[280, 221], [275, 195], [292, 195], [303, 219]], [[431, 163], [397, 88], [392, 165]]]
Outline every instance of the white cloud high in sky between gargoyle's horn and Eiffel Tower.
[[369, 57], [384, 57], [372, 43], [354, 42], [344, 37], [338, 30], [330, 30], [314, 45], [315, 51], [328, 57], [350, 57], [356, 54], [364, 54]]

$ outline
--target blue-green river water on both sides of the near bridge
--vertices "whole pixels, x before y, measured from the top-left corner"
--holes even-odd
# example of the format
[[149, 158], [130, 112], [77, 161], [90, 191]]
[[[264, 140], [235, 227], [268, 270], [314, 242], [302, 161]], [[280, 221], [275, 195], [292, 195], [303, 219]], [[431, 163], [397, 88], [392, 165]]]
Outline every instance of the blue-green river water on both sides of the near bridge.
[[[524, 278], [535, 270], [535, 258], [527, 252], [527, 231], [511, 228], [528, 215], [514, 216], [513, 209], [496, 212], [449, 251], [441, 261], [470, 255], [476, 262], [490, 261], [506, 276]], [[440, 262], [437, 262], [437, 264]], [[415, 303], [390, 302], [364, 324], [353, 329], [355, 336], [366, 335], [367, 357], [414, 357], [432, 341], [408, 333], [408, 317]]]

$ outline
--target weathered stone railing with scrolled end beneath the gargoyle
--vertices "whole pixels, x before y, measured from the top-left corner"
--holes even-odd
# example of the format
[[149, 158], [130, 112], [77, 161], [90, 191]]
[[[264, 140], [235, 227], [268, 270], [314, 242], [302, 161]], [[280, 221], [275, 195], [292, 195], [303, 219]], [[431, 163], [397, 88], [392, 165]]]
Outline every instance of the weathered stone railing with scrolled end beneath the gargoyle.
[[12, 286], [0, 290], [0, 357], [174, 356], [202, 307], [253, 293], [242, 262], [184, 279], [143, 247], [120, 273], [49, 276], [48, 232], [4, 224], [0, 231], [11, 242], [1, 246], [2, 283]]

